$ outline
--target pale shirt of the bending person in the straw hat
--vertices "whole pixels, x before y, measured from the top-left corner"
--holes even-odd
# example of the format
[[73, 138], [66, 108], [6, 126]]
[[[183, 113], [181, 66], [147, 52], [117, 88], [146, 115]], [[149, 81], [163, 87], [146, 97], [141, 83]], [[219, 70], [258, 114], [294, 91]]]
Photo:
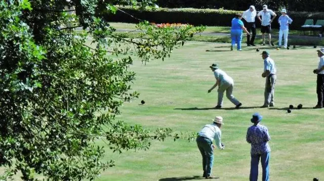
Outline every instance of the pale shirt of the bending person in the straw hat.
[[222, 149], [221, 146], [221, 135], [222, 132], [216, 124], [205, 125], [204, 128], [198, 133], [199, 136], [210, 139], [211, 141], [215, 140], [215, 145], [218, 149]]

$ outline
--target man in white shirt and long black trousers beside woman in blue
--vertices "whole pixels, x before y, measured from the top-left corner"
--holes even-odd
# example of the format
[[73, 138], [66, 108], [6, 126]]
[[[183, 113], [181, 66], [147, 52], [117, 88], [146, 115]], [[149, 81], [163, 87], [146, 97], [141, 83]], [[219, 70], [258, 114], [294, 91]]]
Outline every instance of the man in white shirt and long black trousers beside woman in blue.
[[252, 38], [250, 40], [250, 34], [247, 35], [247, 44], [248, 46], [255, 46], [254, 44], [254, 38], [256, 35], [255, 31], [255, 17], [257, 16], [257, 11], [255, 10], [254, 6], [250, 6], [250, 9], [245, 11], [242, 15], [242, 18], [244, 18], [247, 21], [246, 28], [248, 29], [249, 33], [252, 30]]

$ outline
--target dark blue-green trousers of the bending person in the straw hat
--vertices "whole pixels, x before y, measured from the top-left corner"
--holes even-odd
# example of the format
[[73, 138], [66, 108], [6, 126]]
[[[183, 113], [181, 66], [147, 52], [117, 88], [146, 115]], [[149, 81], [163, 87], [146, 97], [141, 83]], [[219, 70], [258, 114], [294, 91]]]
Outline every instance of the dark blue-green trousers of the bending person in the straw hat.
[[214, 162], [213, 143], [210, 139], [199, 136], [197, 137], [196, 142], [201, 156], [203, 157], [204, 176], [210, 176], [212, 174]]

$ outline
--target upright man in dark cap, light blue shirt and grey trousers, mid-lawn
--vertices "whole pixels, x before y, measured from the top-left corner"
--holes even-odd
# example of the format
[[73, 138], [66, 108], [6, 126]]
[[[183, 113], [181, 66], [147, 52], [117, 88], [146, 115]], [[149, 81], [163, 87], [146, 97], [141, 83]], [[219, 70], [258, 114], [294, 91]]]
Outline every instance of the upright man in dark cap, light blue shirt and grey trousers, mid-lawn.
[[274, 85], [277, 79], [276, 68], [273, 59], [269, 57], [268, 51], [263, 51], [262, 59], [264, 60], [264, 71], [262, 77], [266, 78], [265, 80], [265, 89], [264, 89], [264, 104], [263, 107], [273, 107], [274, 106]]

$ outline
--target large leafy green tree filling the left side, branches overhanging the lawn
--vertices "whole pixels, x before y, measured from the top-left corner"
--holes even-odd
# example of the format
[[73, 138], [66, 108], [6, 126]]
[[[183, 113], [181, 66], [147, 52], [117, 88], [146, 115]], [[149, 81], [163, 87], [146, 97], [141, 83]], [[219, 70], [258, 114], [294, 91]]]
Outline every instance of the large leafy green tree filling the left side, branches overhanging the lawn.
[[[114, 117], [139, 95], [131, 89], [134, 58], [164, 59], [204, 28], [141, 22], [141, 38], [124, 38], [103, 18], [113, 16], [116, 4], [145, 8], [153, 1], [1, 1], [0, 164], [7, 168], [1, 179], [18, 171], [23, 180], [36, 180], [34, 173], [46, 180], [93, 179], [114, 165], [101, 162], [97, 139], [121, 152], [179, 138], [168, 128], [150, 132]], [[68, 24], [74, 26], [61, 26]]]

